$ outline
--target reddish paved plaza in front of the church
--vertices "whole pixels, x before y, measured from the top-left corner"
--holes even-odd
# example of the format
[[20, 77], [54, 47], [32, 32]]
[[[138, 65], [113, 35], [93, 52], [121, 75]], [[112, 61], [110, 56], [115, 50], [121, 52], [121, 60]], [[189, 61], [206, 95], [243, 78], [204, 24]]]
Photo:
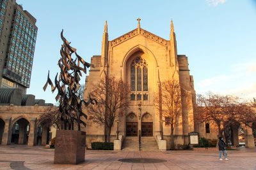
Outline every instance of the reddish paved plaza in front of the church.
[[[228, 151], [218, 160], [217, 152], [114, 152], [87, 150], [79, 165], [53, 164], [54, 150], [42, 146], [0, 146], [0, 169], [256, 169], [256, 148]], [[125, 158], [163, 159], [161, 163], [120, 162]]]

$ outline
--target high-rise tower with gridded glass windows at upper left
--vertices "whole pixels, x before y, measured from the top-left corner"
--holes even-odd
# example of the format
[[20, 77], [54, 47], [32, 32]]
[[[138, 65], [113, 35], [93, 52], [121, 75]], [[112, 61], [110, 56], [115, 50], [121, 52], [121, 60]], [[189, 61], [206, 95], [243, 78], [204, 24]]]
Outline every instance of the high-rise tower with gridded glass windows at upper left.
[[29, 88], [36, 18], [15, 0], [0, 0], [0, 88]]

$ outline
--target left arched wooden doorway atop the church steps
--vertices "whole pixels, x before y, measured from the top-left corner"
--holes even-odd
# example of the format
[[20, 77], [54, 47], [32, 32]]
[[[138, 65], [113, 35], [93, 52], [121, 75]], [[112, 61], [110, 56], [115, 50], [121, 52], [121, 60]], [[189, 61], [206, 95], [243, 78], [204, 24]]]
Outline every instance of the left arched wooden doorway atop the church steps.
[[133, 112], [126, 117], [126, 136], [138, 136], [138, 118]]

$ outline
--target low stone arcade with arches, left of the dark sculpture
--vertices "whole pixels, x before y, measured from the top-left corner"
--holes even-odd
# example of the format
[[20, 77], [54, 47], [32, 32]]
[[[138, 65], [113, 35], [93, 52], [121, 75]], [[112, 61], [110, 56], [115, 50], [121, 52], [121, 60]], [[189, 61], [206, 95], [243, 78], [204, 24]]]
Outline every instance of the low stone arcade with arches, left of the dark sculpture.
[[[41, 124], [38, 118], [49, 106], [0, 106], [0, 145], [46, 145], [55, 136], [53, 127]], [[53, 129], [52, 129], [53, 128]], [[53, 137], [54, 137], [53, 136]]]

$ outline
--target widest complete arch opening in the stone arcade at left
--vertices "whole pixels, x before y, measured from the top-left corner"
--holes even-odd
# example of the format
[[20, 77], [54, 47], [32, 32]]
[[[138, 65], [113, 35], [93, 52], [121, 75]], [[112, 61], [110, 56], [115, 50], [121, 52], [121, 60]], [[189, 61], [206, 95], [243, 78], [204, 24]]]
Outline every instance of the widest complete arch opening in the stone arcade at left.
[[20, 118], [13, 123], [11, 143], [27, 145], [29, 129], [30, 124], [26, 118]]

